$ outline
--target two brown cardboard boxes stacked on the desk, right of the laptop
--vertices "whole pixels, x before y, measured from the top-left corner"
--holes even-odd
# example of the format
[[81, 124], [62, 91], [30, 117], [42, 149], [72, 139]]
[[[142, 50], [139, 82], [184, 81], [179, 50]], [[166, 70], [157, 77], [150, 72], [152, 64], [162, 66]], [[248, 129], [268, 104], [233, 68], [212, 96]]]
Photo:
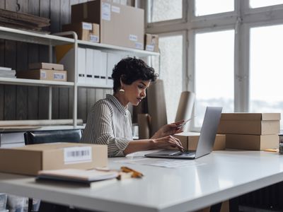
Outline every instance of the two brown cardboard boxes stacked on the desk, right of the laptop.
[[226, 134], [226, 148], [278, 148], [279, 121], [279, 113], [222, 113], [218, 133]]

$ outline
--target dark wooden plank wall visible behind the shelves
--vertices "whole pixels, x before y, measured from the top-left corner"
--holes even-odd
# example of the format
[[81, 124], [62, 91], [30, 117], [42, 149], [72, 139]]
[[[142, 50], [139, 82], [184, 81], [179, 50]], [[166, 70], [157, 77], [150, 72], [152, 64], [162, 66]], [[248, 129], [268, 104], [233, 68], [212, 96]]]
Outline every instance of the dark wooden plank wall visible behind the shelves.
[[[50, 18], [57, 33], [71, 21], [71, 5], [87, 0], [0, 0], [0, 8]], [[25, 71], [32, 62], [48, 62], [48, 47], [0, 39], [0, 66]], [[48, 119], [48, 90], [36, 86], [0, 84], [0, 120]], [[73, 88], [52, 89], [52, 119], [73, 117]], [[86, 122], [91, 106], [111, 89], [79, 88], [78, 118]]]

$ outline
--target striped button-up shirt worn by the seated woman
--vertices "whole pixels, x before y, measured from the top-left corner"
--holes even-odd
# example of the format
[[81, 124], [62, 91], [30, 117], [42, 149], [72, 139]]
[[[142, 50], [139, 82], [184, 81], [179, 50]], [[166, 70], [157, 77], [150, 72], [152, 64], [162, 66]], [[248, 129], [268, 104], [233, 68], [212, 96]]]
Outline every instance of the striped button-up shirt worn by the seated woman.
[[108, 157], [125, 156], [123, 151], [132, 141], [132, 117], [113, 95], [96, 102], [88, 114], [82, 143], [108, 145]]

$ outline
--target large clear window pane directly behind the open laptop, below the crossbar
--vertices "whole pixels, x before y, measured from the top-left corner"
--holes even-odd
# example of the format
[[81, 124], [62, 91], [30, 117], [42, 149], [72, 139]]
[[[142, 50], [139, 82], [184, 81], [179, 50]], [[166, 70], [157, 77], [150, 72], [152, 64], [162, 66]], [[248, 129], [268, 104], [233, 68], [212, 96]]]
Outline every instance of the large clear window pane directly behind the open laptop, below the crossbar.
[[195, 127], [202, 126], [207, 106], [233, 112], [234, 30], [195, 37]]

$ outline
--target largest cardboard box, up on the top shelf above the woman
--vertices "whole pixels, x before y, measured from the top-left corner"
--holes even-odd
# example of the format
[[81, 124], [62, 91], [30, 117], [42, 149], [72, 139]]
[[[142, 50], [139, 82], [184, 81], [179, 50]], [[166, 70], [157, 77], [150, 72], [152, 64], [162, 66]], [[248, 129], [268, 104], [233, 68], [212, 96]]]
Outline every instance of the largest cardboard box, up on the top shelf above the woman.
[[144, 49], [144, 10], [107, 0], [88, 1], [71, 6], [71, 23], [100, 25], [100, 42]]

